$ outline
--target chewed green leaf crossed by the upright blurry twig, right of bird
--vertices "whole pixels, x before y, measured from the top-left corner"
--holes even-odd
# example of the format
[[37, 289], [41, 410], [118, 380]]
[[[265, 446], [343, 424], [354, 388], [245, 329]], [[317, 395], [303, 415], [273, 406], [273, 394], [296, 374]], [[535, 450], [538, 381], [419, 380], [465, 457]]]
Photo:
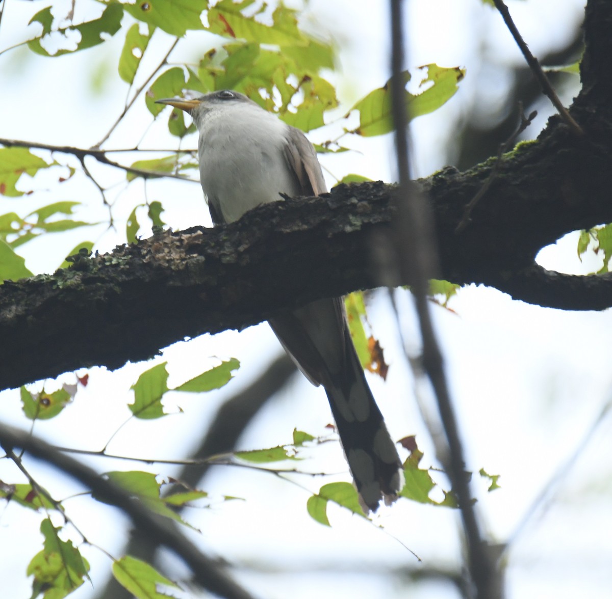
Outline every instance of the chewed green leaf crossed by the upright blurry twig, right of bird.
[[[446, 103], [457, 92], [457, 84], [465, 75], [465, 69], [459, 67], [444, 68], [436, 64], [429, 64], [424, 68], [427, 68], [427, 76], [420, 82], [419, 90], [428, 83], [432, 85], [417, 95], [404, 91], [409, 120], [433, 112]], [[402, 76], [406, 83], [410, 81], [411, 75], [408, 71], [403, 72]], [[391, 81], [387, 81], [383, 87], [373, 90], [365, 98], [359, 100], [351, 108], [351, 111], [353, 110], [359, 111], [359, 127], [352, 133], [370, 137], [393, 131]]]

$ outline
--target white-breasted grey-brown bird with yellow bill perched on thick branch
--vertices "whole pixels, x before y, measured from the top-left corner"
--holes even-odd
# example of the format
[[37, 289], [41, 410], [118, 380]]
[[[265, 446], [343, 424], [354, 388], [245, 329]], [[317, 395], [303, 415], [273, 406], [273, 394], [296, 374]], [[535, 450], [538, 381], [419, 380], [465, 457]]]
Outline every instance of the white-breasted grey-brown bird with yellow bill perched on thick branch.
[[[246, 95], [223, 89], [157, 102], [187, 112], [198, 129], [200, 180], [215, 226], [284, 197], [326, 193], [304, 133]], [[357, 357], [343, 299], [283, 309], [269, 324], [305, 377], [325, 389], [365, 513], [381, 500], [394, 502], [404, 482], [401, 460]]]

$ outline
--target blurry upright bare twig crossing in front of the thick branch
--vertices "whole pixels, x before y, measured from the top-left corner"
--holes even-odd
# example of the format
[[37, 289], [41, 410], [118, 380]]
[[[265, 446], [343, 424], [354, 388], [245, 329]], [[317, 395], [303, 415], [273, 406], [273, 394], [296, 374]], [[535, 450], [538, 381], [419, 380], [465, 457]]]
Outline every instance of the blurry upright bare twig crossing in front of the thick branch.
[[430, 210], [424, 198], [418, 193], [410, 180], [408, 160], [407, 120], [405, 108], [405, 83], [401, 76], [403, 68], [404, 23], [401, 0], [391, 0], [392, 35], [392, 112], [395, 123], [395, 143], [399, 175], [399, 194], [397, 196], [398, 219], [396, 223], [396, 244], [398, 266], [409, 270], [412, 293], [419, 316], [423, 342], [423, 366], [438, 401], [438, 409], [447, 438], [447, 455], [440, 456], [452, 487], [457, 494], [463, 529], [468, 550], [468, 566], [472, 584], [478, 599], [495, 599], [499, 596], [496, 589], [494, 564], [483, 543], [469, 490], [465, 472], [463, 446], [461, 444], [457, 421], [450, 402], [442, 354], [436, 340], [427, 301], [428, 279], [435, 274], [437, 265], [436, 248], [433, 246], [433, 223]]

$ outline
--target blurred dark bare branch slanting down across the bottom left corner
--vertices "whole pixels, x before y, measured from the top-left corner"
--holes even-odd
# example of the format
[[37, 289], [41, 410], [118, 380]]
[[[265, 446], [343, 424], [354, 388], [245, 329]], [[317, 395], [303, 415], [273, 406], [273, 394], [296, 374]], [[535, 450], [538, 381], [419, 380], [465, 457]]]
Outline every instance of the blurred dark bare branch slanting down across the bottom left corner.
[[0, 444], [5, 449], [21, 447], [29, 454], [55, 466], [80, 481], [102, 501], [118, 507], [132, 520], [149, 542], [165, 545], [184, 560], [193, 579], [204, 589], [228, 599], [252, 599], [252, 595], [234, 582], [212, 559], [206, 557], [170, 520], [148, 510], [130, 494], [104, 479], [98, 472], [53, 449], [48, 443], [16, 428], [0, 424]]

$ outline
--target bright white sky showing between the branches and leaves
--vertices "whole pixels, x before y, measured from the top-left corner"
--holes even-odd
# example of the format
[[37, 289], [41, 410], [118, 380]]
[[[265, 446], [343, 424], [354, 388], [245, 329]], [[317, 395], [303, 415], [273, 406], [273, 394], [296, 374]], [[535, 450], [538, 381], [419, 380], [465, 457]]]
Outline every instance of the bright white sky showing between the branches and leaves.
[[[80, 2], [77, 3], [80, 6]], [[68, 2], [56, 2], [58, 7]], [[409, 10], [409, 64], [437, 62], [462, 65], [467, 77], [460, 91], [441, 111], [414, 122], [414, 169], [424, 176], [444, 166], [445, 149], [452, 147], [452, 131], [457, 119], [472, 102], [490, 106], [503, 98], [507, 74], [504, 65], [520, 60], [509, 40], [501, 18], [480, 2], [465, 0], [413, 0]], [[582, 2], [575, 0], [530, 0], [510, 2], [520, 31], [537, 55], [561, 48], [580, 21]], [[43, 5], [8, 0], [0, 27], [0, 50], [23, 39], [23, 24]], [[67, 8], [58, 8], [67, 12]], [[365, 0], [311, 0], [305, 23], [323, 28], [341, 48], [343, 77], [338, 81], [343, 110], [387, 79], [388, 62], [386, 2]], [[179, 57], [200, 51], [195, 37]], [[112, 76], [103, 92], [91, 91], [96, 73], [114, 68], [121, 39], [106, 44], [102, 59], [96, 50], [76, 53], [60, 60], [29, 57], [21, 50], [0, 55], [0, 136], [29, 139], [50, 144], [88, 147], [108, 130], [125, 98], [125, 85]], [[206, 51], [209, 46], [201, 48]], [[163, 49], [160, 50], [160, 53]], [[498, 64], [494, 81], [484, 89], [476, 85], [482, 57]], [[80, 73], [75, 78], [74, 73]], [[483, 84], [484, 85], [484, 84]], [[486, 94], [483, 96], [482, 94]], [[569, 101], [565, 98], [565, 101]], [[10, 116], [10, 117], [9, 117]], [[546, 114], [540, 112], [540, 126]], [[129, 147], [140, 139], [149, 124], [149, 114], [139, 102], [107, 147]], [[146, 147], [171, 147], [160, 119], [147, 133]], [[532, 131], [535, 135], [536, 130]], [[192, 144], [193, 145], [193, 144]], [[392, 180], [394, 169], [390, 139], [351, 140], [351, 152], [326, 157], [322, 161], [338, 177], [359, 172], [371, 178]], [[100, 170], [99, 172], [103, 172]], [[109, 172], [109, 182], [122, 179]], [[36, 179], [40, 191], [19, 199], [0, 199], [0, 213], [15, 210], [26, 213], [55, 199], [79, 200], [87, 204], [84, 219], [101, 221], [106, 212], [91, 184], [75, 177], [54, 190], [61, 172], [56, 169]], [[330, 177], [329, 183], [333, 180]], [[119, 188], [121, 189], [121, 188]], [[198, 185], [176, 181], [147, 186], [149, 200], [159, 199], [166, 211], [163, 218], [174, 229], [209, 223]], [[143, 202], [143, 184], [136, 182], [118, 196], [114, 216], [122, 222], [133, 205]], [[52, 271], [65, 253], [84, 235], [97, 240], [108, 251], [124, 241], [119, 233], [105, 233], [104, 226], [93, 232], [76, 232], [54, 239], [37, 240], [23, 247], [28, 267], [35, 272]], [[141, 234], [149, 232], [141, 230]], [[575, 255], [575, 238], [545, 249], [540, 263], [567, 272], [586, 272]], [[408, 299], [400, 301], [404, 334], [411, 349], [418, 347], [416, 323]], [[512, 301], [508, 296], [482, 287], [468, 287], [453, 298], [454, 312], [433, 307], [435, 322], [446, 356], [453, 401], [466, 444], [468, 469], [483, 467], [501, 474], [502, 488], [486, 493], [485, 481], [474, 477], [474, 493], [479, 498], [483, 521], [492, 537], [504, 542], [517, 529], [550, 477], [581, 443], [592, 422], [610, 397], [610, 360], [607, 331], [612, 325], [609, 311], [602, 313], [562, 312]], [[424, 463], [435, 463], [427, 431], [414, 400], [414, 382], [401, 357], [395, 323], [389, 302], [378, 293], [371, 306], [370, 319], [391, 364], [387, 383], [370, 378], [375, 396], [386, 415], [395, 438], [416, 434], [425, 452]], [[58, 340], [61, 342], [61, 340]], [[156, 422], [130, 422], [113, 440], [109, 450], [117, 454], [180, 458], [195, 447], [206, 422], [223, 397], [246, 386], [278, 351], [267, 325], [216, 337], [203, 336], [187, 344], [176, 344], [164, 351], [169, 362], [171, 384], [180, 383], [201, 372], [214, 358], [236, 356], [242, 367], [236, 378], [220, 392], [204, 397], [180, 397], [184, 414]], [[80, 391], [76, 402], [51, 422], [39, 422], [35, 432], [56, 443], [99, 449], [127, 417], [125, 404], [131, 398], [130, 385], [152, 364], [128, 365], [116, 373], [90, 371], [90, 384]], [[70, 377], [65, 377], [69, 379]], [[419, 389], [430, 402], [427, 389]], [[20, 412], [18, 392], [2, 394], [2, 419], [28, 427]], [[313, 434], [323, 433], [330, 421], [323, 391], [296, 378], [285, 393], [276, 397], [259, 414], [241, 439], [241, 447], [252, 449], [288, 443], [294, 427]], [[508, 597], [570, 598], [588, 595], [608, 597], [612, 586], [609, 567], [612, 557], [612, 526], [609, 498], [612, 480], [610, 463], [610, 420], [592, 436], [578, 462], [554, 492], [554, 502], [523, 529], [512, 546], [508, 562]], [[608, 434], [606, 434], [608, 433]], [[322, 449], [322, 448], [321, 448]], [[319, 450], [316, 452], [319, 456]], [[342, 472], [346, 465], [338, 446], [324, 447], [324, 458], [313, 463]], [[102, 470], [132, 468], [122, 462], [92, 462]], [[323, 466], [321, 466], [323, 463]], [[31, 465], [28, 460], [28, 465]], [[144, 468], [172, 474], [165, 469]], [[40, 482], [54, 496], [73, 493], [75, 485], [56, 472], [37, 469]], [[0, 479], [17, 480], [14, 468], [0, 462]], [[296, 479], [316, 490], [327, 479]], [[440, 479], [443, 483], [443, 479]], [[203, 484], [214, 494], [230, 494], [246, 502], [219, 502], [212, 510], [188, 510], [186, 518], [203, 531], [204, 546], [213, 554], [242, 564], [239, 578], [258, 597], [406, 597], [406, 587], [394, 582], [385, 568], [416, 568], [414, 557], [393, 538], [419, 554], [425, 567], [457, 564], [460, 551], [457, 513], [400, 501], [392, 509], [381, 509], [376, 521], [389, 535], [353, 518], [341, 510], [330, 510], [332, 527], [327, 529], [310, 520], [305, 511], [308, 494], [275, 477], [237, 468], [217, 468]], [[115, 524], [122, 518], [110, 508], [91, 506], [86, 498], [67, 501], [67, 509], [86, 535], [110, 553], [121, 551], [124, 537]], [[109, 521], [113, 526], [109, 525]], [[6, 597], [28, 596], [29, 581], [24, 571], [32, 555], [39, 551], [40, 515], [10, 504], [0, 513], [0, 578]], [[121, 533], [120, 533], [121, 534]], [[393, 536], [392, 536], [393, 535]], [[75, 537], [78, 538], [78, 537]], [[9, 550], [10, 548], [10, 550]], [[110, 570], [108, 559], [94, 548], [84, 548], [92, 564], [96, 589], [104, 584]], [[169, 560], [169, 564], [174, 564]], [[181, 572], [176, 565], [176, 576]], [[253, 569], [251, 569], [253, 568]], [[267, 570], [280, 570], [269, 574]], [[311, 572], [315, 571], [315, 575]], [[259, 572], [261, 570], [261, 572]], [[320, 572], [317, 572], [321, 570]], [[381, 575], [376, 572], [382, 570]], [[296, 573], [297, 571], [297, 573]], [[411, 597], [453, 597], [446, 587], [424, 586], [410, 591]], [[92, 597], [84, 585], [75, 599]]]

